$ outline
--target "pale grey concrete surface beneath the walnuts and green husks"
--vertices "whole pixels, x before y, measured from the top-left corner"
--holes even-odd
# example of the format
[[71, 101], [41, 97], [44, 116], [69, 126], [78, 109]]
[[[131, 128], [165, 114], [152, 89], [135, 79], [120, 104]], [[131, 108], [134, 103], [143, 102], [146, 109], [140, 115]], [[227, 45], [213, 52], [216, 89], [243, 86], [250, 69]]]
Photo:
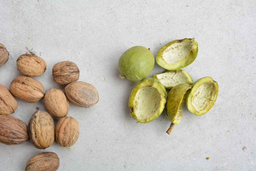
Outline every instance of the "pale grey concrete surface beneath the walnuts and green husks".
[[[69, 60], [78, 64], [79, 80], [93, 84], [100, 96], [91, 108], [70, 104], [68, 116], [80, 124], [75, 149], [56, 142], [45, 150], [30, 141], [0, 144], [0, 170], [24, 170], [31, 156], [48, 151], [58, 154], [59, 170], [256, 170], [256, 1], [1, 0], [0, 9], [0, 42], [13, 58], [0, 68], [1, 84], [9, 87], [21, 75], [16, 59], [28, 47], [47, 62], [36, 77], [46, 90], [64, 88], [51, 69]], [[136, 83], [119, 78], [119, 57], [135, 45], [155, 56], [185, 37], [199, 45], [185, 70], [194, 81], [211, 76], [218, 82], [216, 104], [200, 117], [184, 107], [171, 135], [164, 113], [136, 124], [128, 108]], [[163, 71], [155, 63], [150, 76]], [[46, 110], [43, 100], [18, 100], [10, 116], [28, 123], [36, 107]]]

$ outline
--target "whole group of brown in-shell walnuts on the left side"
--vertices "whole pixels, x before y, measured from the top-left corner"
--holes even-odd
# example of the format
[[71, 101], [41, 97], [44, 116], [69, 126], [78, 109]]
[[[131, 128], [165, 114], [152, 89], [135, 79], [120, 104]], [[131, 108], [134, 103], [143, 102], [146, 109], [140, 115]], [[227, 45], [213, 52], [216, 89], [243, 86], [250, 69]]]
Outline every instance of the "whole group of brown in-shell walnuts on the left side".
[[[5, 46], [0, 43], [0, 67], [9, 58]], [[50, 147], [54, 140], [61, 147], [74, 145], [79, 137], [79, 124], [76, 119], [67, 116], [69, 101], [80, 107], [92, 107], [99, 101], [97, 89], [79, 79], [78, 66], [70, 61], [55, 64], [52, 76], [56, 83], [66, 85], [65, 93], [58, 88], [51, 88], [45, 93], [42, 83], [32, 77], [42, 75], [46, 62], [34, 52], [28, 51], [17, 59], [17, 69], [25, 76], [13, 79], [9, 89], [0, 84], [0, 142], [7, 145], [21, 144], [30, 139], [38, 149]], [[56, 127], [51, 115], [46, 111], [35, 112], [28, 126], [20, 119], [8, 116], [17, 109], [16, 97], [28, 103], [44, 99], [48, 112], [61, 117]], [[31, 157], [25, 170], [57, 170], [59, 158], [52, 152], [39, 153]]]

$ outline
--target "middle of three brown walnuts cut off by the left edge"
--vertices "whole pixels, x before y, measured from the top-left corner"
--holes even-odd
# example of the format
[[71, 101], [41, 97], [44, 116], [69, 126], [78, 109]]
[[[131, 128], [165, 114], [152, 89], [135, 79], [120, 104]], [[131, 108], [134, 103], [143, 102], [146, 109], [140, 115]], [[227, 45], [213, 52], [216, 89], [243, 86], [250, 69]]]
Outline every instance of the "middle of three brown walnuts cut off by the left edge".
[[0, 84], [0, 114], [9, 115], [17, 109], [17, 100], [10, 90]]

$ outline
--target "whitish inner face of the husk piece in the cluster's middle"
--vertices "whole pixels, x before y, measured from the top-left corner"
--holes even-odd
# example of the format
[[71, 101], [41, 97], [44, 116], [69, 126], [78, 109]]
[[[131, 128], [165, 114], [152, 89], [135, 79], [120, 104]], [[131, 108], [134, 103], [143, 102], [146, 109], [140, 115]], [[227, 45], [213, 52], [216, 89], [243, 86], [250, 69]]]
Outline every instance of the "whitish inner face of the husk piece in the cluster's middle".
[[187, 77], [183, 75], [182, 71], [158, 74], [156, 77], [165, 87], [174, 87], [188, 81]]

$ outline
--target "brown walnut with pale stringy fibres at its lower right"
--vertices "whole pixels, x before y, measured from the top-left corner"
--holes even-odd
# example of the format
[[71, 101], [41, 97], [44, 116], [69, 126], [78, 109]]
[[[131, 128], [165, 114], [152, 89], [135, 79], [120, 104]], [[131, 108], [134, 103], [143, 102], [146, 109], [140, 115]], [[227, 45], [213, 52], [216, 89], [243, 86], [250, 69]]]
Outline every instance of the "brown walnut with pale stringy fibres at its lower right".
[[76, 143], [79, 137], [79, 124], [73, 117], [61, 118], [55, 127], [55, 136], [61, 147], [69, 147]]

